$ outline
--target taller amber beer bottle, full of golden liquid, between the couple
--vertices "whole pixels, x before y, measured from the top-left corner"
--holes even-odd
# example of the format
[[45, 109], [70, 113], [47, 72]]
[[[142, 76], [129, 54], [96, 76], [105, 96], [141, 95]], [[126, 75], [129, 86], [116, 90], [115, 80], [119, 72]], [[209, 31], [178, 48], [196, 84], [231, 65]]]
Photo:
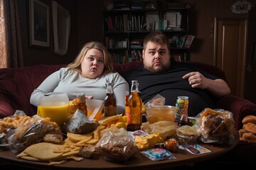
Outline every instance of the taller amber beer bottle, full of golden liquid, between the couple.
[[142, 98], [139, 96], [139, 83], [132, 80], [131, 94], [128, 99], [129, 118], [127, 119], [127, 130], [140, 130], [142, 125]]

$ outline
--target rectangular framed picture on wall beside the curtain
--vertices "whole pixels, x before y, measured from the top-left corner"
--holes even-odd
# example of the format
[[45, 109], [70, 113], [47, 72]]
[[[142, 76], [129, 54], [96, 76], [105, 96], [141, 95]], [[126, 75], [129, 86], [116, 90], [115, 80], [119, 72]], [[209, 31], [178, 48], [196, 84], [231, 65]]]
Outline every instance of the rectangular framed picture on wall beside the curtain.
[[29, 1], [31, 46], [50, 47], [49, 10], [49, 6], [42, 1]]

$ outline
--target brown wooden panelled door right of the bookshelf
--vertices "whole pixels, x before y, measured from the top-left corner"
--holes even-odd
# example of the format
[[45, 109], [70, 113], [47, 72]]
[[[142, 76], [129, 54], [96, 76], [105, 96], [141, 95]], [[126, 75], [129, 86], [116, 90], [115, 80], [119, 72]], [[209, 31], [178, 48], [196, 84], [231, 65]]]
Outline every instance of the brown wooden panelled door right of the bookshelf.
[[246, 19], [215, 18], [215, 66], [223, 69], [231, 94], [243, 97]]

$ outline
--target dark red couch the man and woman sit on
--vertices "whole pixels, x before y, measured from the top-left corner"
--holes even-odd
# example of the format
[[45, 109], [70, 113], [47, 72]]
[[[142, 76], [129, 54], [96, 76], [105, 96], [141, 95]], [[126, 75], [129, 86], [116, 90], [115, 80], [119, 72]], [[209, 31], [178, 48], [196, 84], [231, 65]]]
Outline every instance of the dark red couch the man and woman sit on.
[[[225, 72], [209, 64], [192, 62], [197, 67], [206, 70], [211, 74], [225, 78]], [[114, 63], [114, 71], [124, 74], [129, 69], [138, 67], [140, 62], [130, 62], [128, 64]], [[57, 65], [36, 65], [22, 68], [0, 69], [0, 118], [12, 115], [16, 110], [24, 111], [27, 115], [35, 115], [36, 107], [31, 106], [29, 99], [33, 89], [41, 84], [49, 74], [65, 67], [63, 64]], [[223, 108], [233, 113], [235, 128], [242, 128], [242, 118], [246, 115], [256, 115], [256, 105], [244, 98], [237, 96], [223, 96], [215, 101], [216, 108]], [[222, 158], [218, 157], [215, 162], [255, 162], [256, 144], [240, 141], [230, 153]]]

